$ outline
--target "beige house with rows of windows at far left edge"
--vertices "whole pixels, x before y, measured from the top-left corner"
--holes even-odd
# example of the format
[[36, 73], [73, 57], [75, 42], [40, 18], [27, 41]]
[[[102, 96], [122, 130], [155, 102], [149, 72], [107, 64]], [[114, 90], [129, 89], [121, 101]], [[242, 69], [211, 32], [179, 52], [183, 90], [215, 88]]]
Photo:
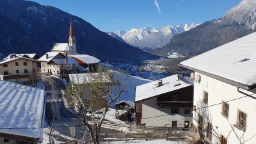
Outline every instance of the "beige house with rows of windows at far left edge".
[[0, 62], [0, 79], [30, 84], [30, 76], [37, 71], [37, 62], [25, 54], [10, 54]]

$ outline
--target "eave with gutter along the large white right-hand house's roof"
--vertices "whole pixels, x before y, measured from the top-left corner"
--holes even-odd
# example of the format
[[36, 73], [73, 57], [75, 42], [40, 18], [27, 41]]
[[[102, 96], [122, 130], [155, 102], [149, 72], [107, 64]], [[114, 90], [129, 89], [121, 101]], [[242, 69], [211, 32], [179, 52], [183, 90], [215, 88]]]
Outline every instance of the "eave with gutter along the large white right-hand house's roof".
[[[251, 86], [248, 86], [248, 85], [246, 85], [246, 84], [241, 84], [241, 83], [239, 83], [239, 82], [235, 82], [235, 81], [233, 81], [233, 80], [229, 80], [229, 79], [227, 79], [227, 78], [220, 77], [220, 76], [218, 76], [218, 75], [213, 75], [212, 73], [207, 73], [207, 72], [205, 72], [205, 71], [200, 71], [199, 69], [195, 69], [195, 68], [193, 68], [193, 67], [185, 66], [185, 65], [183, 65], [183, 64], [179, 64], [179, 66], [185, 67], [186, 69], [190, 69], [190, 70], [192, 70], [192, 71], [197, 71], [198, 73], [201, 73], [201, 74], [206, 75], [206, 76], [208, 76], [208, 77], [214, 78], [214, 79], [216, 79], [216, 80], [220, 80], [220, 81], [225, 82], [225, 83], [227, 83], [227, 84], [231, 84], [232, 86], [236, 86], [236, 87], [242, 88], [242, 89], [244, 89], [244, 90], [251, 90], [251, 89], [250, 89], [251, 86], [253, 86], [253, 87], [256, 88], [256, 84], [253, 84], [253, 85], [251, 85]], [[254, 86], [254, 85], [255, 85], [255, 86]]]

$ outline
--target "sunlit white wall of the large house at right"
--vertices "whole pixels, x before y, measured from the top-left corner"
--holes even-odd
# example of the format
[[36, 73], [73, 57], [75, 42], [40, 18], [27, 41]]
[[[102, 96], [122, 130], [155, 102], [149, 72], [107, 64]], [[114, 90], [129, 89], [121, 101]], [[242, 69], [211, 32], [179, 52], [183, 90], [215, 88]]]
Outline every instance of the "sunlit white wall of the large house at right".
[[[201, 82], [194, 83], [194, 105], [196, 108], [201, 108], [200, 99], [203, 100], [203, 91], [207, 91], [208, 94], [208, 106], [212, 104], [217, 104], [216, 106], [209, 107], [210, 119], [212, 119], [212, 125], [214, 131], [218, 133], [218, 135], [222, 135], [225, 138], [229, 136], [229, 132], [231, 131], [231, 125], [237, 124], [238, 121], [238, 110], [247, 114], [247, 125], [246, 132], [244, 135], [244, 139], [250, 139], [247, 143], [256, 143], [256, 99], [252, 99], [250, 97], [244, 97], [242, 93], [238, 93], [237, 87], [227, 84], [225, 82], [221, 82], [220, 80], [216, 80], [211, 77], [207, 77], [206, 75], [202, 75], [201, 73], [195, 72], [195, 75], [201, 76]], [[252, 94], [250, 91], [244, 91], [248, 94]], [[254, 90], [255, 91], [255, 90]], [[256, 95], [253, 95], [256, 97]], [[237, 99], [239, 97], [244, 97], [242, 99]], [[230, 101], [232, 99], [237, 99], [235, 101]], [[222, 103], [224, 101], [229, 104], [229, 117], [225, 117], [222, 114]], [[196, 112], [193, 112], [193, 123], [194, 125], [198, 125], [198, 112], [206, 112], [207, 108], [199, 109]], [[153, 112], [151, 112], [153, 114]], [[203, 123], [207, 123], [207, 119], [203, 116]], [[229, 124], [231, 123], [231, 125]], [[207, 125], [204, 125], [205, 128]], [[218, 127], [218, 128], [217, 128]], [[205, 128], [203, 128], [205, 132]], [[242, 136], [243, 131], [238, 130], [238, 128], [234, 129], [237, 132], [238, 136]], [[206, 134], [205, 134], [206, 136]], [[214, 138], [214, 137], [213, 137]], [[216, 140], [216, 139], [215, 139]], [[213, 140], [214, 141], [214, 140]], [[238, 138], [235, 136], [234, 132], [231, 132], [230, 136], [227, 138], [227, 143], [239, 143]]]

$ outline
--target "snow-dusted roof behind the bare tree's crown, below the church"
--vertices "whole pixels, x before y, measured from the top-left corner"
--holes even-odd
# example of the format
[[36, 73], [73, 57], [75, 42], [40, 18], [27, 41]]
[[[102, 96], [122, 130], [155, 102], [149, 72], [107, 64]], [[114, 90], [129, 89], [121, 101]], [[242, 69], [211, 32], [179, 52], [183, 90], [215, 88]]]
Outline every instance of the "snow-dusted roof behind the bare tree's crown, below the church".
[[[77, 74], [68, 74], [68, 77], [70, 78], [70, 81], [75, 84], [84, 84], [84, 83], [97, 82], [97, 80], [95, 80], [96, 78], [99, 78], [97, 75], [99, 75], [99, 73], [77, 73]], [[102, 73], [102, 77], [104, 82], [110, 82], [110, 79], [104, 73]]]

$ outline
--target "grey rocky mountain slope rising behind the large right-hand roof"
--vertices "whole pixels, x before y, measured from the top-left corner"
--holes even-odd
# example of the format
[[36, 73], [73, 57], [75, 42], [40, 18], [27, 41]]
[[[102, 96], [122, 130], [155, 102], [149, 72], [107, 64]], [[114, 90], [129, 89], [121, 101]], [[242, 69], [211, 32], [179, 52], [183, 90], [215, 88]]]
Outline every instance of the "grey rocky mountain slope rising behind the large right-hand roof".
[[167, 56], [173, 51], [195, 56], [251, 34], [256, 31], [255, 27], [256, 1], [242, 0], [221, 18], [206, 21], [192, 30], [177, 34], [166, 46], [149, 53]]

